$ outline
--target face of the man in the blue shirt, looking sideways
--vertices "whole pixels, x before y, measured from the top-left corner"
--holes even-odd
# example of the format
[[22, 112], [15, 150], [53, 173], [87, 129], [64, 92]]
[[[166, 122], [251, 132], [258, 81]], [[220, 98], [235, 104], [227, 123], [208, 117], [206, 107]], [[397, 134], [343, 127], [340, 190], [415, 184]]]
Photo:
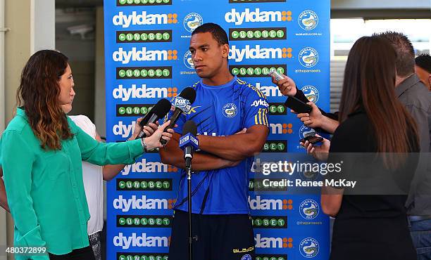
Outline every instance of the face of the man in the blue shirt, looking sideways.
[[192, 53], [194, 70], [201, 78], [212, 78], [227, 66], [229, 46], [219, 45], [211, 32], [192, 35], [189, 51]]

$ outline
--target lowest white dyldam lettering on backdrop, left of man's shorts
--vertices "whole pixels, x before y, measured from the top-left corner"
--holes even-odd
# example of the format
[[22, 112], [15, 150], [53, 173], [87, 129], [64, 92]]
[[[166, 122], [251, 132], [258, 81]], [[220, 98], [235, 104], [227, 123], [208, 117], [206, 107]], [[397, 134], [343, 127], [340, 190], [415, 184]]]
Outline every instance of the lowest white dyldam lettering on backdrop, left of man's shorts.
[[168, 237], [151, 237], [147, 236], [146, 233], [137, 235], [132, 233], [132, 236], [123, 235], [119, 233], [113, 238], [113, 245], [115, 247], [121, 247], [123, 249], [129, 249], [132, 247], [169, 247], [170, 238]]

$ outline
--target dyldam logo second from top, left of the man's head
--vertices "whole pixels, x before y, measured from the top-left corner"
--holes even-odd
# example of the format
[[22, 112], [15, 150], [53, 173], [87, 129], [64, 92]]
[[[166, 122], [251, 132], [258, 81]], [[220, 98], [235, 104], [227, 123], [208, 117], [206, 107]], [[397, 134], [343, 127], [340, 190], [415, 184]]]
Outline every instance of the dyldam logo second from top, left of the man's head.
[[154, 50], [147, 51], [146, 47], [137, 50], [136, 47], [132, 51], [123, 51], [123, 48], [118, 48], [118, 51], [112, 53], [113, 61], [118, 61], [123, 64], [130, 63], [130, 61], [155, 61], [155, 60], [177, 60], [176, 50]]

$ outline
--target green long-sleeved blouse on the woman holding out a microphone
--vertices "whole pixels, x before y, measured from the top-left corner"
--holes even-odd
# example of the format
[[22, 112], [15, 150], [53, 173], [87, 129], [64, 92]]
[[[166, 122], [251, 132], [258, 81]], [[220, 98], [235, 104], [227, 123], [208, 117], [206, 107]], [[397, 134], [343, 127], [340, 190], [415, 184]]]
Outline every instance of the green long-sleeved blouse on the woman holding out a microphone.
[[[87, 247], [89, 211], [82, 161], [132, 164], [143, 153], [139, 140], [99, 143], [71, 119], [68, 123], [75, 136], [61, 141], [61, 150], [43, 150], [19, 108], [1, 137], [0, 157], [15, 222], [15, 247], [46, 247], [51, 254]], [[27, 257], [15, 255], [15, 259]]]

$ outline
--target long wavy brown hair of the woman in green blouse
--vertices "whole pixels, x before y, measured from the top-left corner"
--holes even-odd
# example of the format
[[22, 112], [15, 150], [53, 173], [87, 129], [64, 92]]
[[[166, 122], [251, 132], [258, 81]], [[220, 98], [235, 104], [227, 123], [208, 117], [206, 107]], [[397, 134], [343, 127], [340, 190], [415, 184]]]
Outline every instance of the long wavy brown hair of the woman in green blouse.
[[68, 58], [51, 50], [37, 51], [27, 61], [17, 92], [28, 122], [44, 150], [60, 150], [61, 140], [71, 138], [67, 117], [58, 99], [61, 75]]

